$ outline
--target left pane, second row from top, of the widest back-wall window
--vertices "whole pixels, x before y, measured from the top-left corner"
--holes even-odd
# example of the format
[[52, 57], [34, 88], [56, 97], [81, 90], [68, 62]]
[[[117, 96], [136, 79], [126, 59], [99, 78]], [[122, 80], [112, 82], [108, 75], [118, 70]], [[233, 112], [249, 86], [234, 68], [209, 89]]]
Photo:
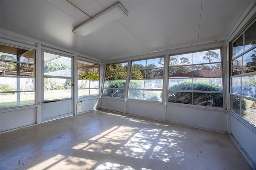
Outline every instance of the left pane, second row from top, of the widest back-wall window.
[[192, 77], [192, 66], [170, 67], [169, 77]]

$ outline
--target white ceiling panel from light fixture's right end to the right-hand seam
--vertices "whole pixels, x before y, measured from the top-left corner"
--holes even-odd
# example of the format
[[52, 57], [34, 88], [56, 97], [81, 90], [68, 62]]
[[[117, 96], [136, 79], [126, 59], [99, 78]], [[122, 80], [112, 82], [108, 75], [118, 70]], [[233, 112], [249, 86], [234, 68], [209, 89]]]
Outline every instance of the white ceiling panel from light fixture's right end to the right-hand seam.
[[128, 17], [120, 21], [149, 49], [197, 40], [200, 1], [125, 1]]

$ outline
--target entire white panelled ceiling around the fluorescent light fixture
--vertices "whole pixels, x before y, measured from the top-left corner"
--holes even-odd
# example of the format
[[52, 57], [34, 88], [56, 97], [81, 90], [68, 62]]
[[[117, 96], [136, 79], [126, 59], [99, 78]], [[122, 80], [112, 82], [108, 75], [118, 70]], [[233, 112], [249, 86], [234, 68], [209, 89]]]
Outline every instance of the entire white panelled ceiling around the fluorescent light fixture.
[[[93, 17], [116, 0], [70, 0]], [[85, 37], [89, 18], [65, 0], [1, 0], [1, 30], [109, 61], [194, 43], [226, 40], [251, 1], [120, 0], [128, 17]]]

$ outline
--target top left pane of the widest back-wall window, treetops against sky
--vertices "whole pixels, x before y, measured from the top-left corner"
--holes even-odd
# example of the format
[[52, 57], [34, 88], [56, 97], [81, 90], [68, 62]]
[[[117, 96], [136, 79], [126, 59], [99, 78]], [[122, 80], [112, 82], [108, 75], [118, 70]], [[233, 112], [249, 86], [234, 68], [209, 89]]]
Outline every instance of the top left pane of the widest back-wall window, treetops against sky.
[[192, 64], [192, 53], [170, 56], [170, 66]]

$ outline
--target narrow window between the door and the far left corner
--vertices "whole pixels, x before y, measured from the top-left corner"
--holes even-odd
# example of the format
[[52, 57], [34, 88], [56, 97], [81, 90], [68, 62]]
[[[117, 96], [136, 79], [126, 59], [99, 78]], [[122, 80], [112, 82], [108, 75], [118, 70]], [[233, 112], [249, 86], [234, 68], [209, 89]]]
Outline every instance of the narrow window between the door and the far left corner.
[[99, 65], [77, 61], [78, 99], [99, 96]]

